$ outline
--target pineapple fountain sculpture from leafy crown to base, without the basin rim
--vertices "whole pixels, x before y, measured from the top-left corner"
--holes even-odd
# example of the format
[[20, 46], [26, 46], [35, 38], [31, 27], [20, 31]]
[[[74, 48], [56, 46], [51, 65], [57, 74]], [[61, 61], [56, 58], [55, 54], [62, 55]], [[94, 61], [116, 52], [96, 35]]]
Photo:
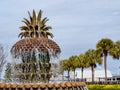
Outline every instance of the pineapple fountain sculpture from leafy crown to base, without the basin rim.
[[28, 14], [29, 20], [24, 18], [25, 25], [20, 27], [22, 32], [18, 37], [21, 37], [21, 40], [11, 48], [12, 57], [15, 59], [14, 77], [23, 82], [48, 82], [51, 63], [58, 58], [61, 50], [56, 42], [48, 39], [48, 36], [53, 38], [53, 34], [49, 32], [52, 27], [46, 25], [49, 20], [47, 17], [42, 19], [42, 11], [40, 10], [38, 15], [34, 10], [32, 15], [30, 12]]

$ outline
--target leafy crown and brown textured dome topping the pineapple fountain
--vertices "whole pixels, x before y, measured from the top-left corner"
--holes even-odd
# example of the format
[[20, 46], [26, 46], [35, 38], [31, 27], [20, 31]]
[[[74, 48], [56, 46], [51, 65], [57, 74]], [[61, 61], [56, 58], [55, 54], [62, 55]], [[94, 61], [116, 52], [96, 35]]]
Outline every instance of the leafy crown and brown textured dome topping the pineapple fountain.
[[46, 25], [49, 19], [47, 17], [42, 19], [41, 10], [38, 15], [34, 10], [32, 15], [30, 12], [28, 14], [29, 20], [24, 18], [22, 22], [25, 23], [25, 26], [20, 27], [22, 32], [18, 35], [18, 37], [24, 39], [14, 44], [11, 49], [13, 58], [26, 58], [33, 54], [36, 56], [49, 54], [50, 57], [57, 57], [61, 50], [54, 41], [48, 39], [48, 36], [53, 38], [53, 34], [49, 32], [52, 27]]

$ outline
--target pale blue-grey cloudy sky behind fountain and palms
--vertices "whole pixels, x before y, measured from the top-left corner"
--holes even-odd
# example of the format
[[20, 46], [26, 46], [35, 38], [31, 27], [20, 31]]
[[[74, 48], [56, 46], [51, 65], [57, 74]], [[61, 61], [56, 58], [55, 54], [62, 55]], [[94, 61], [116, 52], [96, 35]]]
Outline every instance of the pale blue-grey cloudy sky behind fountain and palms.
[[[11, 47], [20, 40], [21, 21], [33, 9], [41, 9], [43, 17], [49, 18], [47, 25], [53, 28], [61, 60], [95, 49], [102, 38], [120, 40], [120, 0], [0, 0], [0, 43], [8, 53], [7, 61]], [[107, 68], [120, 74], [120, 60], [109, 56]]]

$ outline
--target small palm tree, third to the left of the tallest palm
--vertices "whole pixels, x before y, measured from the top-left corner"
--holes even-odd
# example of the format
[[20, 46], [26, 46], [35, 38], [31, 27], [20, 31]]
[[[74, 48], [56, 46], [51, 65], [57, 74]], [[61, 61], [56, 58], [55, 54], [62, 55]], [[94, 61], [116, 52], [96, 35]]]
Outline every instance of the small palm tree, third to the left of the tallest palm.
[[74, 81], [75, 81], [75, 69], [77, 68], [77, 56], [71, 56], [69, 58], [70, 62], [71, 62], [71, 69], [74, 72]]

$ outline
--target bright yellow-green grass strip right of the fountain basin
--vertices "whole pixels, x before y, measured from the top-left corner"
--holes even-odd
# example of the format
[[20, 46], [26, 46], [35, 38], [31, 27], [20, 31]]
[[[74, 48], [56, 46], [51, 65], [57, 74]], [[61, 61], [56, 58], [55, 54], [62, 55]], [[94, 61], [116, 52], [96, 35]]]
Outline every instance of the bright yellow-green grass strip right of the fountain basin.
[[93, 84], [93, 85], [87, 85], [87, 88], [89, 90], [120, 90], [120, 84], [114, 84], [114, 85]]

